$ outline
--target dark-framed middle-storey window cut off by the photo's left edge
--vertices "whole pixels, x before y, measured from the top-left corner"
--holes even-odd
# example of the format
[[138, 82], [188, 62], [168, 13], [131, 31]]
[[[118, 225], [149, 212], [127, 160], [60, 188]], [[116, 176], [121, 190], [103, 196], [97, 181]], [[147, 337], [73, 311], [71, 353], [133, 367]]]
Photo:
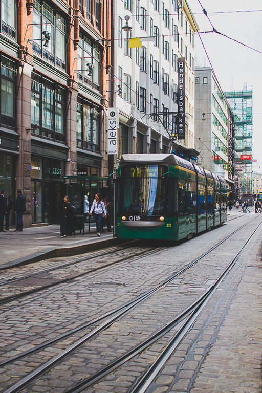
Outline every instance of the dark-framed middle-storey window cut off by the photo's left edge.
[[15, 105], [15, 63], [7, 57], [0, 56], [1, 60], [1, 124], [14, 127], [14, 105]]

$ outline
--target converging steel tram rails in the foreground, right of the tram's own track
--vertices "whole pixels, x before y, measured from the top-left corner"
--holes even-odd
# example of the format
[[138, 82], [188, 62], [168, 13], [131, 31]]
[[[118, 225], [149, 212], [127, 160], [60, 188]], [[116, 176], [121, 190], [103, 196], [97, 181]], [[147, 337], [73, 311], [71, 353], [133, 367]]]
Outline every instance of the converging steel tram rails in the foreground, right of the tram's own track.
[[[255, 220], [255, 219], [254, 219]], [[253, 220], [253, 221], [254, 221]], [[250, 224], [250, 222], [249, 222]], [[259, 223], [260, 225], [261, 223]], [[245, 224], [246, 225], [246, 224]], [[56, 364], [60, 363], [62, 361], [62, 359], [64, 359], [65, 357], [69, 356], [70, 354], [74, 353], [77, 348], [81, 347], [81, 345], [83, 345], [84, 343], [88, 342], [89, 340], [91, 340], [93, 337], [97, 336], [100, 332], [104, 331], [105, 329], [107, 329], [109, 326], [111, 326], [114, 322], [116, 322], [117, 320], [119, 320], [121, 317], [123, 317], [125, 314], [128, 313], [128, 311], [132, 310], [133, 308], [135, 308], [137, 305], [141, 304], [142, 302], [144, 302], [147, 298], [149, 298], [150, 296], [152, 296], [153, 294], [155, 294], [156, 292], [158, 292], [160, 289], [162, 289], [163, 287], [165, 287], [169, 282], [171, 282], [174, 278], [178, 277], [179, 275], [181, 275], [183, 272], [185, 272], [187, 269], [189, 269], [190, 267], [192, 267], [195, 263], [197, 263], [199, 260], [201, 260], [202, 258], [204, 258], [206, 255], [208, 255], [210, 252], [212, 252], [214, 249], [216, 249], [217, 247], [219, 247], [220, 245], [222, 245], [224, 242], [227, 241], [227, 239], [229, 239], [231, 236], [233, 236], [235, 233], [237, 233], [238, 231], [240, 231], [243, 227], [245, 227], [245, 225], [242, 225], [241, 227], [237, 228], [235, 231], [233, 231], [231, 234], [229, 234], [228, 236], [226, 236], [222, 241], [220, 241], [219, 243], [217, 243], [216, 245], [214, 245], [212, 248], [210, 248], [207, 252], [205, 252], [204, 254], [202, 254], [201, 256], [199, 256], [198, 258], [195, 258], [193, 261], [191, 261], [191, 263], [189, 263], [188, 265], [186, 265], [184, 268], [182, 268], [181, 270], [175, 272], [174, 274], [172, 274], [170, 277], [168, 277], [167, 279], [165, 279], [163, 282], [160, 283], [160, 285], [156, 286], [155, 288], [152, 288], [151, 290], [148, 290], [146, 292], [144, 292], [143, 294], [141, 294], [140, 296], [137, 296], [135, 299], [123, 304], [121, 307], [119, 307], [118, 309], [112, 310], [111, 312], [108, 312], [106, 314], [104, 314], [103, 316], [90, 321], [86, 324], [83, 324], [81, 326], [79, 326], [79, 328], [77, 328], [77, 331], [80, 330], [84, 330], [87, 327], [90, 327], [93, 324], [99, 324], [101, 321], [103, 321], [102, 323], [100, 323], [98, 326], [96, 326], [96, 328], [89, 332], [88, 334], [84, 335], [82, 338], [80, 338], [79, 340], [77, 340], [74, 344], [70, 345], [66, 350], [62, 351], [60, 354], [58, 354], [57, 356], [55, 356], [54, 358], [50, 359], [48, 362], [46, 362], [45, 364], [42, 364], [40, 367], [38, 367], [37, 369], [35, 369], [32, 373], [30, 373], [28, 376], [26, 376], [24, 379], [21, 379], [17, 384], [13, 385], [11, 388], [7, 389], [5, 391], [5, 393], [14, 393], [14, 392], [18, 392], [21, 388], [25, 387], [28, 385], [28, 383], [30, 383], [31, 381], [33, 381], [34, 379], [36, 379], [37, 377], [39, 377], [40, 375], [44, 374], [47, 372], [47, 370], [49, 370], [50, 368], [54, 367]], [[259, 225], [257, 226], [257, 228], [259, 227]], [[257, 229], [256, 228], [256, 229]], [[256, 231], [255, 229], [255, 231]], [[255, 233], [255, 231], [252, 233], [252, 235]], [[252, 235], [249, 237], [249, 239], [252, 237]], [[246, 244], [249, 242], [249, 239], [247, 240]], [[245, 244], [245, 245], [246, 245]], [[245, 245], [242, 247], [242, 249], [238, 252], [241, 253], [241, 251], [244, 249]], [[237, 254], [237, 255], [238, 255]], [[237, 258], [236, 257], [233, 259], [233, 261], [231, 261], [231, 265], [233, 266], [233, 264], [235, 263], [235, 260]], [[228, 268], [229, 269], [229, 268]], [[174, 317], [171, 321], [169, 321], [168, 324], [166, 324], [164, 326], [164, 328], [161, 328], [158, 332], [156, 332], [154, 335], [152, 335], [151, 337], [149, 337], [145, 342], [140, 343], [138, 346], [136, 346], [135, 348], [132, 348], [132, 350], [128, 351], [127, 353], [125, 353], [123, 356], [121, 356], [118, 359], [115, 359], [112, 362], [109, 362], [105, 367], [102, 367], [97, 373], [95, 373], [92, 377], [89, 377], [87, 379], [82, 380], [81, 382], [79, 382], [79, 384], [76, 384], [71, 390], [68, 390], [68, 392], [78, 392], [78, 391], [82, 391], [83, 389], [85, 389], [88, 386], [91, 386], [92, 384], [94, 384], [96, 381], [98, 381], [99, 379], [101, 379], [103, 376], [107, 375], [108, 373], [110, 373], [113, 369], [115, 369], [116, 367], [119, 367], [119, 365], [123, 364], [124, 362], [128, 361], [129, 359], [132, 359], [134, 356], [136, 356], [138, 353], [140, 353], [141, 351], [143, 351], [145, 348], [147, 348], [149, 345], [151, 345], [152, 343], [154, 343], [157, 339], [159, 339], [160, 337], [162, 337], [165, 333], [167, 333], [168, 331], [170, 331], [170, 329], [174, 328], [174, 326], [177, 326], [179, 323], [181, 323], [185, 318], [186, 318], [186, 322], [189, 323], [191, 318], [193, 317], [193, 315], [195, 313], [198, 312], [198, 310], [201, 310], [202, 307], [204, 307], [205, 302], [208, 300], [208, 298], [211, 296], [211, 294], [213, 293], [213, 291], [215, 290], [215, 288], [217, 287], [217, 285], [219, 285], [220, 281], [223, 279], [223, 277], [225, 276], [225, 272], [223, 274], [220, 275], [220, 277], [217, 279], [217, 283], [213, 284], [212, 286], [210, 286], [204, 293], [203, 295], [201, 295], [199, 297], [199, 299], [195, 300], [194, 302], [192, 302], [189, 307], [187, 309], [185, 309], [182, 313], [180, 313], [179, 315], [177, 315], [176, 317]], [[191, 322], [192, 324], [193, 322]], [[189, 326], [190, 327], [190, 326]], [[188, 327], [188, 329], [189, 329]], [[183, 329], [186, 329], [186, 326], [184, 326]], [[188, 330], [187, 329], [187, 330]], [[46, 343], [43, 343], [42, 345], [37, 346], [37, 348], [33, 348], [33, 350], [30, 351], [26, 351], [23, 354], [20, 354], [18, 357], [13, 357], [12, 359], [9, 359], [8, 361], [4, 361], [2, 363], [0, 363], [0, 367], [3, 367], [7, 364], [10, 364], [11, 362], [15, 362], [18, 359], [21, 359], [25, 356], [28, 356], [30, 354], [32, 354], [33, 352], [36, 351], [40, 351], [42, 348], [48, 346], [48, 345], [52, 345], [60, 340], [62, 340], [65, 337], [69, 337], [70, 334], [74, 334], [76, 332], [76, 330], [73, 330], [71, 332], [67, 332], [67, 334], [65, 335], [60, 335], [58, 336], [55, 340], [50, 340]], [[179, 333], [179, 337], [181, 337], [181, 334], [183, 332], [181, 331], [181, 333]], [[170, 344], [171, 346], [174, 345], [173, 343]], [[165, 355], [166, 357], [167, 355]], [[147, 379], [147, 377], [146, 377]], [[140, 380], [139, 380], [140, 381]], [[141, 385], [141, 382], [139, 382], [139, 384]], [[137, 389], [137, 387], [136, 387]], [[140, 391], [140, 390], [131, 390], [132, 392], [134, 391]]]

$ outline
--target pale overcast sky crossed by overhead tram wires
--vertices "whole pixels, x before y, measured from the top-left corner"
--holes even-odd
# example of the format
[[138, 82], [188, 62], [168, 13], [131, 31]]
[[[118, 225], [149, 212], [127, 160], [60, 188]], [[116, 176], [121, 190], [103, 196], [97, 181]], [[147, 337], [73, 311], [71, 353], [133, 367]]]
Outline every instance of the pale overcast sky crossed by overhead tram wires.
[[[262, 1], [188, 0], [201, 31], [213, 27], [245, 45], [262, 52]], [[204, 15], [203, 9], [207, 11]], [[234, 12], [228, 11], [260, 12]], [[223, 13], [212, 13], [223, 12]], [[253, 89], [253, 171], [262, 173], [262, 53], [216, 33], [201, 34], [207, 55], [223, 91], [243, 90], [244, 83]], [[196, 65], [210, 66], [207, 55], [195, 34]]]

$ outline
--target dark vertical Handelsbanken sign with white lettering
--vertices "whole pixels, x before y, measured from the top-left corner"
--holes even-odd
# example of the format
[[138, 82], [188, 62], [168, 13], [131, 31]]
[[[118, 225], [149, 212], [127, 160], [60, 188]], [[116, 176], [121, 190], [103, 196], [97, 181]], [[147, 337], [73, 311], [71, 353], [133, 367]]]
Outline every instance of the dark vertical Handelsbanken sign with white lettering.
[[178, 59], [178, 139], [185, 139], [185, 58]]

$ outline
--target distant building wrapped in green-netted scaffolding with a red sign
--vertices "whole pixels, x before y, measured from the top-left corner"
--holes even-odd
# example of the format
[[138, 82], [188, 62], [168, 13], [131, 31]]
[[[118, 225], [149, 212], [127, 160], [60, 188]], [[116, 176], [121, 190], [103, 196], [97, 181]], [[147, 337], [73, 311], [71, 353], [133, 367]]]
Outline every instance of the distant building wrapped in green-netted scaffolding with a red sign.
[[252, 185], [252, 139], [253, 139], [253, 90], [244, 84], [241, 91], [224, 92], [235, 119], [235, 176], [239, 190], [235, 197], [253, 193]]

